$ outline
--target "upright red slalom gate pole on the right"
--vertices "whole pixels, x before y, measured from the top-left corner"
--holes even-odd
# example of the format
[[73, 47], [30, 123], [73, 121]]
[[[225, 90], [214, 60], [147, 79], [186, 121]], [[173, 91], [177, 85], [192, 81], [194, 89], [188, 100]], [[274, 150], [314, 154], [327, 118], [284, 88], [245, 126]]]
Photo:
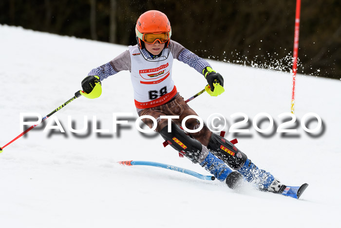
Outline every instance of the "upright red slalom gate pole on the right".
[[301, 0], [296, 0], [294, 54], [293, 54], [294, 63], [292, 65], [291, 113], [294, 113], [294, 109], [295, 109], [295, 82], [296, 82], [296, 72], [297, 72], [298, 44], [299, 44], [299, 36], [300, 36], [300, 12], [301, 12]]

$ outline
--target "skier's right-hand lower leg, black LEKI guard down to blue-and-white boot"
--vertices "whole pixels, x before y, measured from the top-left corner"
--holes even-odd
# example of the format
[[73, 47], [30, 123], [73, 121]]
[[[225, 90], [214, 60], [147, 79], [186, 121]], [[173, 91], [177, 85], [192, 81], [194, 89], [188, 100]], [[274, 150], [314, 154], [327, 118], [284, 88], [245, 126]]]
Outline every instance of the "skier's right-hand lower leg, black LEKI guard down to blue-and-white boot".
[[228, 166], [238, 170], [246, 181], [253, 183], [261, 190], [282, 193], [285, 189], [285, 185], [281, 184], [271, 173], [255, 166], [247, 159], [246, 154], [225, 138], [213, 133], [208, 143], [208, 149]]

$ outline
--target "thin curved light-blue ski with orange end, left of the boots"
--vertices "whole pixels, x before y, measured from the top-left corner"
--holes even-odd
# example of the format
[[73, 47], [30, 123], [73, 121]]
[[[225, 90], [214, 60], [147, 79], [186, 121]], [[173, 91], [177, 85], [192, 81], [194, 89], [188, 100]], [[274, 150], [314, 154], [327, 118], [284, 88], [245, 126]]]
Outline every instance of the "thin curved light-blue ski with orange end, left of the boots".
[[118, 162], [121, 165], [125, 165], [125, 166], [155, 166], [155, 167], [160, 167], [160, 168], [167, 168], [170, 170], [174, 170], [174, 171], [178, 171], [178, 172], [183, 172], [189, 175], [192, 175], [194, 177], [197, 177], [199, 179], [202, 180], [209, 180], [209, 181], [213, 181], [215, 180], [214, 176], [205, 176], [205, 175], [201, 175], [197, 172], [191, 171], [189, 169], [186, 168], [180, 168], [177, 166], [170, 166], [170, 165], [166, 165], [166, 164], [162, 164], [162, 163], [157, 163], [157, 162], [146, 162], [146, 161], [121, 161]]

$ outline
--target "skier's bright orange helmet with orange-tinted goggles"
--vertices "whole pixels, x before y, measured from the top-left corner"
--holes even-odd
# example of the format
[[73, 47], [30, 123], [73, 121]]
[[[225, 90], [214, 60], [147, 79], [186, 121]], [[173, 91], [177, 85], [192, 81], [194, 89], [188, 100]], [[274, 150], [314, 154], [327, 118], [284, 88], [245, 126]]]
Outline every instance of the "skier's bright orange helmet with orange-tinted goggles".
[[[136, 22], [136, 40], [139, 48], [143, 48], [144, 42], [170, 43], [171, 28], [167, 16], [157, 10], [150, 10], [143, 13]], [[143, 41], [143, 42], [141, 42]]]

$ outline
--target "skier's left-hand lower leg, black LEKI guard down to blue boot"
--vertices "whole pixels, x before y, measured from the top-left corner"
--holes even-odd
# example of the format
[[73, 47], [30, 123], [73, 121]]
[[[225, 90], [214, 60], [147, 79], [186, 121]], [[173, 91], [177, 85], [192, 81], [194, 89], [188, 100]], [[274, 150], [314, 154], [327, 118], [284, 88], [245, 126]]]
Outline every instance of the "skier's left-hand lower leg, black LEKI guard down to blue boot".
[[193, 163], [199, 163], [219, 181], [225, 181], [227, 186], [235, 188], [242, 179], [240, 173], [232, 171], [219, 158], [215, 157], [205, 145], [191, 138], [177, 124], [171, 124], [171, 132], [168, 132], [168, 126], [160, 131], [161, 136], [174, 149], [189, 158]]

